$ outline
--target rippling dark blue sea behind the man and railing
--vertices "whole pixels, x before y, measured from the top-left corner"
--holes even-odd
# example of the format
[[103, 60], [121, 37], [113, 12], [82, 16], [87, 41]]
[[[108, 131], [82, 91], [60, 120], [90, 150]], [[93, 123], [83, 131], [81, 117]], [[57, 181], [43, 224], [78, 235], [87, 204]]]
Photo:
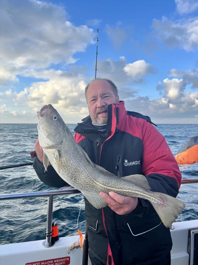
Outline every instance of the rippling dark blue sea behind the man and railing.
[[[76, 124], [67, 126], [73, 132]], [[176, 155], [190, 137], [197, 136], [198, 124], [158, 124], [157, 130], [165, 137], [173, 155]], [[1, 124], [0, 166], [33, 162], [30, 152], [35, 150], [37, 138], [37, 124]], [[188, 165], [183, 170], [180, 167], [180, 171], [183, 179], [198, 178], [198, 163]], [[31, 165], [0, 170], [0, 179], [1, 195], [57, 190], [42, 183]], [[181, 185], [177, 198], [186, 204], [177, 221], [198, 219], [198, 183]], [[78, 215], [78, 228], [84, 233], [84, 200], [79, 214], [81, 200], [82, 194], [54, 196], [53, 221], [59, 220], [60, 237], [77, 234]], [[0, 244], [45, 239], [46, 197], [0, 201], [0, 207]]]

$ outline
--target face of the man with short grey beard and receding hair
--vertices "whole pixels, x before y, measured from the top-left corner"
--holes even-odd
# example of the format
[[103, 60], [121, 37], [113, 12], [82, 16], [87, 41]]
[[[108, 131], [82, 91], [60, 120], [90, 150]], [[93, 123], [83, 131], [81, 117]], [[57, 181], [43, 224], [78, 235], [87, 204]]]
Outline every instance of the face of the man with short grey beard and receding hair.
[[102, 125], [107, 122], [107, 106], [119, 102], [114, 90], [105, 80], [95, 80], [87, 89], [87, 105], [92, 122]]

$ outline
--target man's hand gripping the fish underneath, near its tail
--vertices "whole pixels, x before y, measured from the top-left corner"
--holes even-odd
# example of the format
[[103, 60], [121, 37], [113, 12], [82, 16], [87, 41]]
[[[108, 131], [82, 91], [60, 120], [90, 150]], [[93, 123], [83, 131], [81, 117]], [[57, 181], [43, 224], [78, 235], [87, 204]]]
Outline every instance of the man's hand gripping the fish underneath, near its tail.
[[108, 203], [111, 210], [117, 214], [131, 213], [138, 205], [137, 197], [121, 196], [113, 191], [109, 195], [105, 192], [100, 192], [99, 195]]

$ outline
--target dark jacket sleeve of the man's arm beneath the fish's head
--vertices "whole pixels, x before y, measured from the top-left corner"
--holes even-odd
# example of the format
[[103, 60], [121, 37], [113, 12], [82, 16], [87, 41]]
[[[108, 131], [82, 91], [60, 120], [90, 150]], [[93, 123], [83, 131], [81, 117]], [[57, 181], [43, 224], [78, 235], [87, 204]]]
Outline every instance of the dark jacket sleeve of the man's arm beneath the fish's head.
[[52, 165], [49, 165], [47, 168], [48, 171], [45, 171], [43, 163], [41, 163], [37, 157], [34, 159], [33, 168], [38, 178], [46, 185], [55, 188], [61, 188], [67, 185], [67, 182], [56, 173]]

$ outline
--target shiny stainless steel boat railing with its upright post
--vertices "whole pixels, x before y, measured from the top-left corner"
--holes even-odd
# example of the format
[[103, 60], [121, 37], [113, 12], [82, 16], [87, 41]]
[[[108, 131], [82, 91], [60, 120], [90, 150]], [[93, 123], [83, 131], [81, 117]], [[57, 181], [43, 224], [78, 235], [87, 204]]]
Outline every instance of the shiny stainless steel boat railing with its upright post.
[[[181, 184], [198, 183], [198, 179], [184, 179]], [[76, 189], [65, 189], [56, 191], [38, 191], [28, 193], [16, 193], [16, 194], [4, 194], [0, 195], [0, 201], [13, 200], [22, 198], [33, 198], [33, 197], [48, 197], [48, 209], [47, 209], [47, 227], [46, 227], [46, 240], [43, 242], [43, 246], [49, 248], [53, 246], [52, 243], [52, 215], [53, 215], [53, 196], [65, 195], [65, 194], [77, 194], [81, 193]]]

